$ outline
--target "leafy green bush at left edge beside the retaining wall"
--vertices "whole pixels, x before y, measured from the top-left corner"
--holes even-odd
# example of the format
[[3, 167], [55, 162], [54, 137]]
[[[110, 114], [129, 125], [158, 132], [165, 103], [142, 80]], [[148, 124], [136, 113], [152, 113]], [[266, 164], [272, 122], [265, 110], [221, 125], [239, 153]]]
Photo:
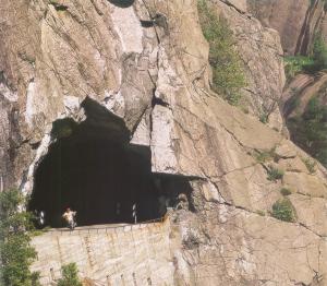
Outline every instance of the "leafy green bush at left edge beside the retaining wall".
[[21, 211], [25, 199], [19, 190], [0, 193], [0, 284], [5, 286], [36, 286], [38, 273], [29, 266], [36, 259], [31, 247], [29, 233], [33, 229], [32, 215]]

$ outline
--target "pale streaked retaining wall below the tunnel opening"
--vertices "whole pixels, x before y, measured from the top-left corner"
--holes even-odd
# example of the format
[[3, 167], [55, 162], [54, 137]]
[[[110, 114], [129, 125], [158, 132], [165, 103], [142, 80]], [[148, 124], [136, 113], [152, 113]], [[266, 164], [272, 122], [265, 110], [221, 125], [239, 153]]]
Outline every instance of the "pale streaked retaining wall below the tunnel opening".
[[[99, 226], [101, 227], [101, 226]], [[82, 278], [101, 285], [173, 285], [169, 219], [150, 225], [102, 229], [53, 230], [35, 237], [34, 271], [43, 285], [60, 277], [60, 267], [76, 262]], [[107, 227], [107, 228], [106, 228]]]

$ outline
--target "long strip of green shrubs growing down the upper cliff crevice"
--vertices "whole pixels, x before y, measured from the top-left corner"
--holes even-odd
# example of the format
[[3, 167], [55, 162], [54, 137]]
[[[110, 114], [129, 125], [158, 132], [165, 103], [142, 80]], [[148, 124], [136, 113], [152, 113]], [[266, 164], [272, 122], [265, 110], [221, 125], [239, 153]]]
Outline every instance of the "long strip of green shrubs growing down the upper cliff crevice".
[[230, 104], [237, 105], [245, 75], [240, 55], [234, 48], [233, 32], [226, 19], [217, 16], [207, 0], [198, 0], [199, 23], [209, 43], [209, 63], [213, 68], [213, 90]]

